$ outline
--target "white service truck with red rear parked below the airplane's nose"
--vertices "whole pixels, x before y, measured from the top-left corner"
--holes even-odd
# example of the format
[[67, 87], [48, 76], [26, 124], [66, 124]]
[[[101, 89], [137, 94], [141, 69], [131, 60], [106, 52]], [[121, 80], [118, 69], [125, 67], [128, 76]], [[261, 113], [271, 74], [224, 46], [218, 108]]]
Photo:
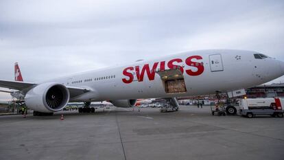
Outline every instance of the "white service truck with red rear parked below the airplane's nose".
[[271, 115], [283, 117], [284, 99], [281, 98], [245, 98], [239, 101], [239, 112], [248, 118], [255, 115]]

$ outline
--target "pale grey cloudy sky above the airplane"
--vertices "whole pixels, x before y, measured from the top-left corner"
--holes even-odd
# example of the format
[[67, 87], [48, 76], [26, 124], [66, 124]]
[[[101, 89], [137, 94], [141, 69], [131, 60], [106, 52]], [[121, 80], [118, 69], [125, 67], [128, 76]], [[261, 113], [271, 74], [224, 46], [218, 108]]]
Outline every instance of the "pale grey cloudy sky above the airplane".
[[14, 79], [16, 61], [27, 82], [196, 49], [284, 61], [281, 0], [1, 0], [0, 13], [5, 80]]

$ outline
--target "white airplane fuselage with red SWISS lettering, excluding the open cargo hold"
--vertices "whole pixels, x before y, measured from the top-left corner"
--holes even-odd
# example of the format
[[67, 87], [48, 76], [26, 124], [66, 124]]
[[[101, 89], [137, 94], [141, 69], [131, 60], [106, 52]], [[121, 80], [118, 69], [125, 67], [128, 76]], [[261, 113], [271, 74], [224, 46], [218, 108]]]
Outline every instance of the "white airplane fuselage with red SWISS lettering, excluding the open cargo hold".
[[[47, 82], [88, 88], [91, 91], [71, 98], [70, 102], [95, 102], [208, 95], [215, 91], [254, 87], [284, 74], [283, 62], [273, 58], [257, 59], [254, 54], [259, 53], [225, 49], [185, 52], [127, 66], [87, 71]], [[166, 93], [161, 77], [154, 73], [174, 68], [175, 65], [183, 71], [187, 88], [185, 93]]]

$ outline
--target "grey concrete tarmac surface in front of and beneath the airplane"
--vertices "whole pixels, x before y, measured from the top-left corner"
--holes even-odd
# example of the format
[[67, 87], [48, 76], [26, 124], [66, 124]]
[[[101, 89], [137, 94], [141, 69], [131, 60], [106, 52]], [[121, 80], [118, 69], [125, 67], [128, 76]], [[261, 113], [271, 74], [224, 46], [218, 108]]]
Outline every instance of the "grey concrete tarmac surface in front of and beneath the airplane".
[[0, 126], [1, 160], [284, 159], [283, 118], [218, 117], [209, 106], [3, 115]]

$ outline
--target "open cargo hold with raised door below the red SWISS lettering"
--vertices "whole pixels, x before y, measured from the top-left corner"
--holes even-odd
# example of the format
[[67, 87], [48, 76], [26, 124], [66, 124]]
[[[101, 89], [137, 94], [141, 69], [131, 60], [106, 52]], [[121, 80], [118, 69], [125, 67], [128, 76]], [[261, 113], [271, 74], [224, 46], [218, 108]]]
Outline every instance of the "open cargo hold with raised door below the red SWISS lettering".
[[156, 71], [161, 77], [166, 93], [186, 93], [185, 78], [179, 68]]

